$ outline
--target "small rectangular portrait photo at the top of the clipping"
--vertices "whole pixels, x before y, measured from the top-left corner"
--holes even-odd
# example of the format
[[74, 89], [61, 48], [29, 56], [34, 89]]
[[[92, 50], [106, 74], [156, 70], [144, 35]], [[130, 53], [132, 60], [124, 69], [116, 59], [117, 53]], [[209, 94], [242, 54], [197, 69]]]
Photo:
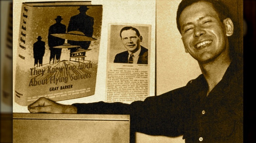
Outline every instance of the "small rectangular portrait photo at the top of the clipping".
[[109, 62], [148, 64], [150, 27], [139, 24], [112, 24], [109, 32]]

